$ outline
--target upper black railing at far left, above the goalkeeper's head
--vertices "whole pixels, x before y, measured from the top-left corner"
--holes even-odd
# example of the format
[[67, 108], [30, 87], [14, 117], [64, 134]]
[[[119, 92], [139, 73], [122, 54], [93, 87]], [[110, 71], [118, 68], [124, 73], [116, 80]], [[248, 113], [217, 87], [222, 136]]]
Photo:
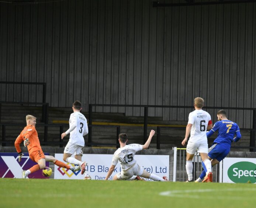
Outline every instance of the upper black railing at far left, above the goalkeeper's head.
[[[46, 83], [45, 82], [0, 82], [0, 84], [21, 84], [21, 85], [42, 85], [42, 102], [17, 102], [17, 101], [0, 101], [0, 123], [1, 123], [1, 104], [20, 104], [20, 105], [42, 105], [42, 122], [45, 124], [48, 123], [48, 107], [49, 104], [46, 103]], [[7, 87], [6, 87], [6, 96], [7, 96]], [[5, 97], [7, 100], [7, 97]]]

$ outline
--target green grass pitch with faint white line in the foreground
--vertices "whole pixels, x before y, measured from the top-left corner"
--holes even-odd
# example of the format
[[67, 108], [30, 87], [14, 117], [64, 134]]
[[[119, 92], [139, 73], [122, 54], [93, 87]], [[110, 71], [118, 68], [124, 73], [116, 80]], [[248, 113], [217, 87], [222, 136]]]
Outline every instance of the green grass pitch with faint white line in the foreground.
[[0, 178], [0, 207], [254, 207], [255, 184]]

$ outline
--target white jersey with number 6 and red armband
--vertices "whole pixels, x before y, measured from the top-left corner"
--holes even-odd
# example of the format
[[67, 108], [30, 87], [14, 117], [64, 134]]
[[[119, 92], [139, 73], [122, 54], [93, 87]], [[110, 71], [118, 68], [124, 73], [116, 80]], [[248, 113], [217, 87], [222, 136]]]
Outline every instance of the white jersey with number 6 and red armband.
[[188, 124], [192, 124], [189, 141], [196, 143], [207, 142], [207, 126], [211, 116], [204, 110], [194, 110], [188, 116]]

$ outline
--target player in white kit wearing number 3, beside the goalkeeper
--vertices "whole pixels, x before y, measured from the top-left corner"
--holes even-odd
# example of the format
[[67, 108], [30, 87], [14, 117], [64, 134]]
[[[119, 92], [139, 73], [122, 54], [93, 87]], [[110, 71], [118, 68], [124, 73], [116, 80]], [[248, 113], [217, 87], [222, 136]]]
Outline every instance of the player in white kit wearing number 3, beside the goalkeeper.
[[[78, 100], [73, 103], [72, 109], [73, 113], [70, 114], [69, 118], [69, 129], [61, 134], [61, 138], [63, 139], [66, 135], [70, 133], [69, 142], [64, 149], [63, 160], [67, 163], [78, 165], [78, 169], [75, 170], [79, 170], [80, 167], [81, 173], [85, 174], [84, 179], [91, 179], [85, 169], [87, 163], [82, 162], [84, 149], [83, 136], [88, 134], [87, 120], [80, 112], [82, 110], [82, 104]], [[72, 154], [75, 155], [75, 158], [71, 157]]]

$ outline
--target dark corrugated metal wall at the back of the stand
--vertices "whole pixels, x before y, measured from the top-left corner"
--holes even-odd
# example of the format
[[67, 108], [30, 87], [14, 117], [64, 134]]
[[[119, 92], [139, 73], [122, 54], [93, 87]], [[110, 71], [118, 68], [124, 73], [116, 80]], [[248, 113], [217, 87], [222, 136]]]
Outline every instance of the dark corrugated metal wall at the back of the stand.
[[[165, 3], [183, 2], [166, 0]], [[256, 107], [256, 3], [152, 7], [150, 0], [0, 3], [1, 81], [46, 82], [46, 101]], [[42, 101], [41, 86], [0, 85], [1, 100]], [[143, 108], [97, 107], [143, 115]], [[190, 109], [149, 108], [187, 120]], [[214, 121], [216, 110], [209, 110]], [[228, 111], [251, 127], [252, 112]]]

